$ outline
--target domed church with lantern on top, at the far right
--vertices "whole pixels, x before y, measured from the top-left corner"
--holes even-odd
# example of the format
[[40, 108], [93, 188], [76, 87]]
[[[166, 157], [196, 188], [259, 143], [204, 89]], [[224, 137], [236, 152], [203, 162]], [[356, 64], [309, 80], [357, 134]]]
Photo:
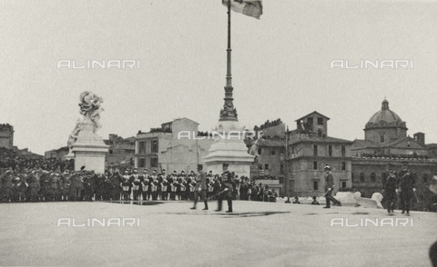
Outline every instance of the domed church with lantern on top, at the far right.
[[433, 155], [435, 144], [425, 144], [425, 134], [407, 134], [406, 122], [391, 111], [389, 102], [382, 101], [381, 110], [371, 116], [364, 127], [364, 140], [355, 139], [351, 144], [352, 189], [371, 197], [384, 189], [387, 169], [398, 173], [402, 163], [416, 180], [419, 203], [415, 210], [432, 210], [430, 191], [432, 175], [437, 174], [437, 159]]

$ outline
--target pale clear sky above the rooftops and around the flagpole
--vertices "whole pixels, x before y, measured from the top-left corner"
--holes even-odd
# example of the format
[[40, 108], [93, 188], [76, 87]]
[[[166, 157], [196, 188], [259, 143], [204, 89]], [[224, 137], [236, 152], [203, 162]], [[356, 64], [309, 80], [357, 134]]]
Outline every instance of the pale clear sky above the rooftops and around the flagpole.
[[[408, 134], [437, 143], [437, 3], [263, 1], [255, 19], [232, 12], [232, 85], [246, 128], [317, 111], [328, 134], [364, 138], [386, 98]], [[34, 153], [65, 146], [79, 95], [104, 99], [97, 132], [135, 136], [176, 118], [212, 130], [226, 85], [227, 8], [220, 0], [0, 1], [0, 124]], [[139, 68], [58, 68], [61, 60], [139, 60]], [[360, 60], [413, 67], [331, 68]]]

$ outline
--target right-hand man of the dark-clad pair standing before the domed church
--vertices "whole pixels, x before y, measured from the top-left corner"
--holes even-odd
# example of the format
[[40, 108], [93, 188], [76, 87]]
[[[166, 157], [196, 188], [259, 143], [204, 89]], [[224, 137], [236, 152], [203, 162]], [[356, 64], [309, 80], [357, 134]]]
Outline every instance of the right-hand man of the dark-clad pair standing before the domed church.
[[402, 170], [399, 173], [399, 191], [401, 191], [401, 209], [402, 214], [407, 212], [407, 215], [410, 216], [410, 205], [412, 202], [412, 198], [414, 197], [415, 181], [412, 176], [412, 172], [408, 169], [408, 163], [402, 162]]

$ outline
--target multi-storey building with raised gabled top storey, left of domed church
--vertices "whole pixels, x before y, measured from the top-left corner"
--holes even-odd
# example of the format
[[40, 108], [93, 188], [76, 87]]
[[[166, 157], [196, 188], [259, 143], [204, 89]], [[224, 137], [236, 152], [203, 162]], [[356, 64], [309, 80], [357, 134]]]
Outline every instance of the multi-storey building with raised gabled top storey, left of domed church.
[[[324, 167], [331, 168], [334, 193], [351, 188], [351, 141], [328, 136], [330, 118], [313, 112], [296, 120], [288, 133], [290, 195], [320, 196], [324, 193]], [[284, 186], [285, 188], [285, 186]]]

